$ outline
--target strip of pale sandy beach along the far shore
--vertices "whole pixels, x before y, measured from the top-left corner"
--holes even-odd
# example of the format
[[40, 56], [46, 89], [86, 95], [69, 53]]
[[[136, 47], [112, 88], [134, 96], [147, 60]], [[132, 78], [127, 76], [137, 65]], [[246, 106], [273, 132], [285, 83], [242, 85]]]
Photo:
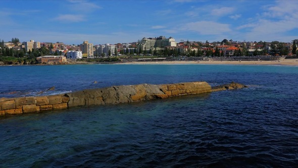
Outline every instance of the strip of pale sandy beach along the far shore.
[[298, 66], [298, 59], [281, 59], [278, 61], [146, 61], [126, 62], [121, 64], [232, 64], [232, 65], [292, 65]]

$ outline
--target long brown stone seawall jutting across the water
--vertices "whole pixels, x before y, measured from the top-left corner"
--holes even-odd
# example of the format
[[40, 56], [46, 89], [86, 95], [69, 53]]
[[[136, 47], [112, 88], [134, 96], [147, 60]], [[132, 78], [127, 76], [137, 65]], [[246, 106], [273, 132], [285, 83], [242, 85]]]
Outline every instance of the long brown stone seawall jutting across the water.
[[205, 81], [193, 81], [163, 85], [113, 86], [51, 96], [0, 98], [0, 116], [59, 110], [74, 106], [165, 99], [173, 96], [210, 93], [243, 87], [245, 86], [232, 82], [231, 84], [211, 88]]

